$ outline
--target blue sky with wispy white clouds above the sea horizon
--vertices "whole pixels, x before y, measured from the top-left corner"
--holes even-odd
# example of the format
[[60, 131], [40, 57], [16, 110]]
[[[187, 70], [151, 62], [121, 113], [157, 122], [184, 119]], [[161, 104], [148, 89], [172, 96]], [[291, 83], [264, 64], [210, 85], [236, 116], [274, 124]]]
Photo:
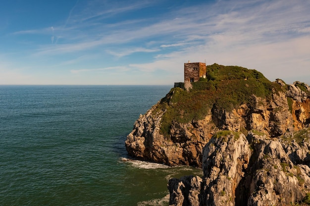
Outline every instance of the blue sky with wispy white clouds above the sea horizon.
[[173, 84], [184, 63], [310, 84], [310, 0], [7, 0], [0, 84]]

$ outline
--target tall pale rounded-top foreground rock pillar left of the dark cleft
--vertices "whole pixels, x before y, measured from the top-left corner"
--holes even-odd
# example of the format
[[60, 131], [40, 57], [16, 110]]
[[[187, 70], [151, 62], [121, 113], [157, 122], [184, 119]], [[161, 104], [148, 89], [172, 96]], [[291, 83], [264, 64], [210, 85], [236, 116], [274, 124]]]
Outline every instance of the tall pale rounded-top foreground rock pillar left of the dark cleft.
[[214, 135], [204, 149], [204, 206], [234, 206], [236, 188], [250, 161], [251, 150], [244, 134], [225, 133]]

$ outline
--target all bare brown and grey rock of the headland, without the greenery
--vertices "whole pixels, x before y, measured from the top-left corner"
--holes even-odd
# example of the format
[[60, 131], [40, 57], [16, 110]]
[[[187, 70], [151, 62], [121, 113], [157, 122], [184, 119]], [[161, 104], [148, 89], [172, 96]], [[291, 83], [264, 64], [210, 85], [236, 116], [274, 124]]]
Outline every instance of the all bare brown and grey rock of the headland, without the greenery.
[[276, 82], [283, 91], [269, 98], [252, 95], [232, 110], [214, 104], [204, 119], [172, 121], [169, 137], [160, 132], [166, 109], [158, 102], [135, 122], [126, 149], [142, 160], [203, 168], [203, 177], [169, 180], [171, 206], [302, 204], [310, 196], [310, 86]]

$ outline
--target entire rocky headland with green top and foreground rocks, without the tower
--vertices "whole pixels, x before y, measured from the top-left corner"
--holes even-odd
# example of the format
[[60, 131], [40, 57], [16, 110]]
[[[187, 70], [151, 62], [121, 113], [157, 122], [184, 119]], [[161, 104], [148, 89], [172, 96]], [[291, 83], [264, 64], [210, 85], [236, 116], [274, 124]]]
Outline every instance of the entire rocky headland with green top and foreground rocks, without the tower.
[[206, 79], [175, 87], [134, 124], [138, 159], [202, 167], [170, 179], [170, 205], [310, 204], [310, 86], [270, 82], [256, 70], [207, 66]]

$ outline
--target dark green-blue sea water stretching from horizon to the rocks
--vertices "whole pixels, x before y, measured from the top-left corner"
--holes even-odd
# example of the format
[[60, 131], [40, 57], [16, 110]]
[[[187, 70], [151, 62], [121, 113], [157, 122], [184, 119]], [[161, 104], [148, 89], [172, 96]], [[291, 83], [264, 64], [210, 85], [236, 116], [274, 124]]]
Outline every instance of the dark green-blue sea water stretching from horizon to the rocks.
[[171, 86], [0, 86], [0, 206], [167, 206], [201, 174], [131, 159], [124, 142]]

